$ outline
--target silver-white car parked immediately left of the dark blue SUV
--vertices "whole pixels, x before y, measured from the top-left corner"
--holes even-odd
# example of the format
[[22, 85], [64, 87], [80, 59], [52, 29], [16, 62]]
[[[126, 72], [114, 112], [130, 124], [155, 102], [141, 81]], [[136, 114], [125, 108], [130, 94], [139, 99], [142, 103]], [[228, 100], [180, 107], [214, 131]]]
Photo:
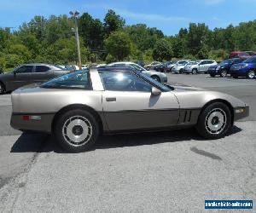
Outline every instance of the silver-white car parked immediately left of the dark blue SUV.
[[208, 68], [210, 66], [214, 66], [217, 65], [218, 63], [215, 60], [200, 60], [195, 64], [189, 65], [187, 66], [183, 72], [184, 73], [192, 73], [192, 74], [196, 74], [196, 73], [207, 73]]

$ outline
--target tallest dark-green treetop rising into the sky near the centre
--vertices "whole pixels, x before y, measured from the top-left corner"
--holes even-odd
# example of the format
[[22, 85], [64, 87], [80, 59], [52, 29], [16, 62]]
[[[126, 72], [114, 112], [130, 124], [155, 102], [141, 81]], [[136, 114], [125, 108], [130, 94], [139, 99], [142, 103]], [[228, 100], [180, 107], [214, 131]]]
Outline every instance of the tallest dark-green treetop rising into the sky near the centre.
[[119, 14], [116, 14], [113, 9], [109, 9], [104, 19], [104, 26], [107, 35], [109, 35], [111, 32], [122, 29], [125, 26], [125, 20]]

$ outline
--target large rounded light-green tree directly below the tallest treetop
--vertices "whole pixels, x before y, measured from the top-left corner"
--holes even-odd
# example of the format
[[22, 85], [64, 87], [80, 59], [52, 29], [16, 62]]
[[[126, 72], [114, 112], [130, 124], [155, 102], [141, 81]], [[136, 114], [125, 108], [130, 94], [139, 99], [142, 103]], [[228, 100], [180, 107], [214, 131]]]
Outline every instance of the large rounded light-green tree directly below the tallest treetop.
[[104, 41], [105, 48], [116, 60], [124, 60], [131, 54], [131, 39], [125, 32], [113, 32]]

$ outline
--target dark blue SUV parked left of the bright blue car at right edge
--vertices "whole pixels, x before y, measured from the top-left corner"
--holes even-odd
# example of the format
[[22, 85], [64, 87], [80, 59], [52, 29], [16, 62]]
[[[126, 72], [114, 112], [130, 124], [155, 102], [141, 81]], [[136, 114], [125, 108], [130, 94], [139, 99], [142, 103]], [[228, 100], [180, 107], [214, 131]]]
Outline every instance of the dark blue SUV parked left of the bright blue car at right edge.
[[226, 77], [227, 74], [230, 74], [230, 67], [232, 65], [236, 65], [238, 63], [241, 63], [243, 59], [235, 58], [235, 59], [227, 59], [219, 63], [215, 66], [210, 66], [208, 68], [208, 73], [211, 77], [215, 77], [217, 75], [221, 77]]

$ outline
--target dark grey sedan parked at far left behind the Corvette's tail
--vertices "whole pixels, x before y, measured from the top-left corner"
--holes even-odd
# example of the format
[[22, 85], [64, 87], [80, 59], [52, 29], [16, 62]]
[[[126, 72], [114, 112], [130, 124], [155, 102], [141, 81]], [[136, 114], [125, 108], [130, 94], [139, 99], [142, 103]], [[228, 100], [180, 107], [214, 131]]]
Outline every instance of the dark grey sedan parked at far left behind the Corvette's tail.
[[0, 75], [0, 94], [13, 91], [26, 84], [42, 83], [50, 78], [67, 74], [67, 69], [49, 64], [26, 64], [15, 68], [14, 71]]

